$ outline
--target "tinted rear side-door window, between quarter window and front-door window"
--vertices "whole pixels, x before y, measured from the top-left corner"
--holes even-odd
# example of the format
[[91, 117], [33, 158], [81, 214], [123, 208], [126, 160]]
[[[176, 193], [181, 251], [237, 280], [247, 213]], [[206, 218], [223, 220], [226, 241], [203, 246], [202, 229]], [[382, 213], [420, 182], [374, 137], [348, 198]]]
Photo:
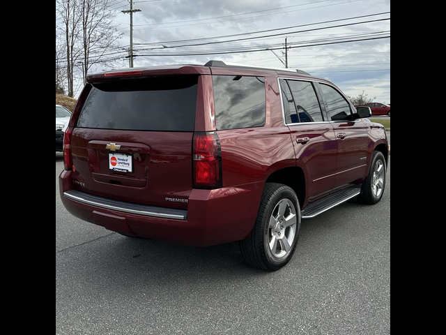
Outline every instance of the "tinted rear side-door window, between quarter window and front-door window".
[[300, 122], [323, 121], [321, 107], [311, 82], [287, 80], [295, 101]]

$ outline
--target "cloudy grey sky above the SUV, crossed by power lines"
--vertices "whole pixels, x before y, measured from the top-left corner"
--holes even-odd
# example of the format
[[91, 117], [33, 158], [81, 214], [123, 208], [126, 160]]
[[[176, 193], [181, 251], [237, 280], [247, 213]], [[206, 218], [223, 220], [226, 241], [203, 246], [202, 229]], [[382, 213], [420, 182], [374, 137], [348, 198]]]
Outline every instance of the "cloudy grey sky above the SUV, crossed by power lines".
[[[128, 48], [130, 15], [121, 10], [129, 0], [109, 3], [123, 33], [118, 44]], [[141, 10], [133, 14], [134, 67], [219, 59], [284, 68], [277, 56], [284, 58], [287, 38], [289, 68], [328, 78], [348, 96], [364, 91], [390, 103], [390, 0], [137, 0], [133, 8]], [[364, 21], [374, 22], [357, 24]], [[128, 68], [127, 52], [117, 52], [113, 67]], [[98, 64], [92, 72], [109, 69]]]

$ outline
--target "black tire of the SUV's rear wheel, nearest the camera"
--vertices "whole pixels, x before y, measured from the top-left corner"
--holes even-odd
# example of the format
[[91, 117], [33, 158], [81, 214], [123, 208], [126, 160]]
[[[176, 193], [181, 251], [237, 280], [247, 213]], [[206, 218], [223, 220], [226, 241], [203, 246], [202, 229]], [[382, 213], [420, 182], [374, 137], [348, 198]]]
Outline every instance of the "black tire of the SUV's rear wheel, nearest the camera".
[[[274, 234], [274, 230], [270, 229], [270, 219], [272, 218], [273, 211], [278, 213], [278, 207], [276, 207], [282, 200], [289, 200], [292, 202], [293, 206], [288, 202], [286, 205], [285, 212], [283, 214], [284, 220], [285, 213], [287, 217], [290, 218], [291, 214], [295, 214], [296, 222], [293, 228], [283, 228], [282, 227], [282, 238], [286, 237], [286, 234], [291, 236], [291, 229], [293, 229], [293, 242], [290, 245], [288, 239], [286, 239], [289, 245], [289, 251], [285, 253], [282, 257], [277, 258], [271, 251], [269, 241]], [[282, 201], [282, 203], [284, 203]], [[295, 213], [293, 213], [295, 211]], [[243, 255], [245, 261], [252, 265], [253, 267], [258, 267], [259, 269], [264, 269], [267, 271], [276, 271], [284, 265], [286, 265], [293, 257], [295, 248], [298, 244], [299, 233], [300, 233], [300, 206], [298, 197], [295, 192], [289, 186], [284, 184], [266, 183], [263, 188], [263, 194], [261, 197], [261, 203], [259, 207], [259, 213], [257, 214], [256, 223], [252, 229], [251, 234], [247, 239], [240, 241], [240, 251]], [[280, 221], [282, 222], [282, 221]], [[277, 221], [277, 227], [280, 226], [279, 221]], [[284, 229], [284, 230], [283, 230]], [[276, 232], [280, 235], [280, 232]], [[288, 238], [288, 237], [287, 237]], [[279, 245], [277, 249], [282, 249], [282, 240], [277, 239], [277, 244]], [[277, 251], [277, 249], [275, 249]], [[285, 251], [280, 251], [285, 252]]]

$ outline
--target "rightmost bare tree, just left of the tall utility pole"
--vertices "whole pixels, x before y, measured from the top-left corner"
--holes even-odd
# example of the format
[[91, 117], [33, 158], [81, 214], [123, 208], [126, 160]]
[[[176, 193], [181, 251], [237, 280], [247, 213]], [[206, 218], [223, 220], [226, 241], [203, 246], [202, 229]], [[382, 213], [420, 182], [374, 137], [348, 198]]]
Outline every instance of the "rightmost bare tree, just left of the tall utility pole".
[[82, 31], [82, 70], [84, 77], [93, 66], [100, 61], [102, 64], [112, 63], [103, 59], [107, 50], [123, 34], [118, 34], [113, 24], [114, 12], [109, 9], [109, 0], [79, 0], [79, 15]]

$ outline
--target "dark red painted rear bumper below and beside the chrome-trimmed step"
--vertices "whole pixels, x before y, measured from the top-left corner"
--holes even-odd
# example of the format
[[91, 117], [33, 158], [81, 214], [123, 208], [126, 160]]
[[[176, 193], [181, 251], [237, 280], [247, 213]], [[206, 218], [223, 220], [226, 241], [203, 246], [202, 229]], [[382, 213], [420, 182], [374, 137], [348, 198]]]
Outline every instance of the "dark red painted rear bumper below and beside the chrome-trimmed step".
[[72, 215], [121, 234], [192, 246], [210, 246], [247, 237], [263, 188], [261, 183], [253, 183], [215, 190], [194, 189], [189, 194], [187, 221], [182, 221], [122, 213], [69, 200], [63, 191], [72, 189], [73, 173], [63, 171], [59, 177], [63, 205]]

